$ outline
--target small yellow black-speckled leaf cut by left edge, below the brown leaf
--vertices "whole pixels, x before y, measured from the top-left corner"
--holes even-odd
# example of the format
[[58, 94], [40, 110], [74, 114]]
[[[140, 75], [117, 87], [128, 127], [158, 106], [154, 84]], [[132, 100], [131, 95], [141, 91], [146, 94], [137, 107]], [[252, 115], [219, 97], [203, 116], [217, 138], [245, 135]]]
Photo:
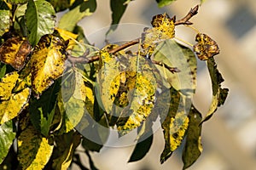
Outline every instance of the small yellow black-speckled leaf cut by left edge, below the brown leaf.
[[15, 88], [19, 74], [14, 71], [6, 74], [0, 81], [0, 100], [8, 100]]

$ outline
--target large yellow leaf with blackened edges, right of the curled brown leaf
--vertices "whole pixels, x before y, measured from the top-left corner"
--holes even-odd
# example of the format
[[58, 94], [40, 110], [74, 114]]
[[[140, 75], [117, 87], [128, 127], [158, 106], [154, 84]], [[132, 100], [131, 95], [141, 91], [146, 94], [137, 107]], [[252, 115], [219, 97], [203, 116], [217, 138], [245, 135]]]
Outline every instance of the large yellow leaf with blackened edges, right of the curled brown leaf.
[[33, 50], [26, 69], [32, 73], [32, 90], [39, 97], [61, 77], [67, 58], [65, 42], [60, 37], [44, 36]]

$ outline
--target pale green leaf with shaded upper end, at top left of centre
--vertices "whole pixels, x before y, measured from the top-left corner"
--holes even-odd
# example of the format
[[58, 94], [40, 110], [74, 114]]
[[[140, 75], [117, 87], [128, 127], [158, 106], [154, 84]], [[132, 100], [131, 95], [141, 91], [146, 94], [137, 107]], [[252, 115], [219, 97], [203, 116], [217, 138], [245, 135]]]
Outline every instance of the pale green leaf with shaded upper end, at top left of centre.
[[90, 16], [96, 10], [96, 0], [78, 1], [79, 5], [63, 14], [59, 22], [59, 28], [73, 31], [79, 20], [85, 16]]

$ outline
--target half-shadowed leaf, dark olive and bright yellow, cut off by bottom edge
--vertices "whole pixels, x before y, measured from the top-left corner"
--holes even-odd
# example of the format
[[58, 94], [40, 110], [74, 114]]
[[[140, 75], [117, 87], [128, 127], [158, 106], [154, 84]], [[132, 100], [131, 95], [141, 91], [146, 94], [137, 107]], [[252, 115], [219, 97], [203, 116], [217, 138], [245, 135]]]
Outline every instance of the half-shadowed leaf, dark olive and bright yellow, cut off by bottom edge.
[[54, 145], [41, 137], [32, 126], [26, 127], [18, 138], [18, 161], [22, 169], [43, 169], [49, 161]]

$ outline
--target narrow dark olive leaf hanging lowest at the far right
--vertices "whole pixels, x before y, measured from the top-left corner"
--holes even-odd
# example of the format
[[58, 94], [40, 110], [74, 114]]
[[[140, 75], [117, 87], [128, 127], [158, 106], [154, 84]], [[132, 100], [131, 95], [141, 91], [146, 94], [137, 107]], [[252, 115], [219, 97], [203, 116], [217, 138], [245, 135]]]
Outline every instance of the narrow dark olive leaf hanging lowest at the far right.
[[201, 113], [193, 106], [189, 111], [189, 127], [183, 149], [183, 169], [190, 167], [202, 152]]

